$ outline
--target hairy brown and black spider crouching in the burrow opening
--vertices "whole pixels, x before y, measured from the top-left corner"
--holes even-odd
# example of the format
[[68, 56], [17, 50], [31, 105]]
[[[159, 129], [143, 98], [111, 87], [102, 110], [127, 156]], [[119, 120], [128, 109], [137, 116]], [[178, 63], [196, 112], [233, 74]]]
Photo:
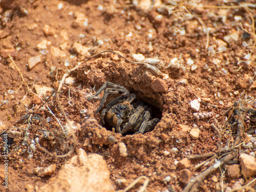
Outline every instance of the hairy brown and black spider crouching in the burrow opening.
[[[106, 88], [109, 86], [110, 88]], [[121, 94], [115, 98], [106, 108], [102, 110], [100, 115], [100, 124], [105, 123], [115, 127], [117, 133], [124, 135], [127, 132], [142, 133], [152, 131], [159, 122], [158, 118], [150, 120], [151, 108], [144, 104], [143, 101], [135, 100], [136, 95], [130, 94], [123, 86], [111, 82], [105, 82], [100, 89], [87, 100], [97, 97], [101, 91], [104, 90], [103, 97], [100, 101], [99, 107], [95, 113], [98, 113], [103, 107], [106, 98], [109, 94]]]

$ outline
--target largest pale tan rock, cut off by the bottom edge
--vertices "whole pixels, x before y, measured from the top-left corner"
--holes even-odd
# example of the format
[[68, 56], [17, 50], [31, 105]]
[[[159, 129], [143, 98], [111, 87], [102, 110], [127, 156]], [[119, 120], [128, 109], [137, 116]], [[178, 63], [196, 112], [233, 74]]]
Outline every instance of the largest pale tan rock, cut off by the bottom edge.
[[102, 191], [114, 192], [110, 171], [101, 155], [87, 155], [81, 148], [78, 155], [63, 165], [56, 177], [48, 180], [39, 192]]

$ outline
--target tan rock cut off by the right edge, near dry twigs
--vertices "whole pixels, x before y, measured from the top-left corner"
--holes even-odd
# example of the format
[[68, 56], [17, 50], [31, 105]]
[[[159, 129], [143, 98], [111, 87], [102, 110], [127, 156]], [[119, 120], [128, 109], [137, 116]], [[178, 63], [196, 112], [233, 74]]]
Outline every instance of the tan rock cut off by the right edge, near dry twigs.
[[247, 154], [240, 155], [240, 166], [246, 177], [256, 175], [256, 159]]

